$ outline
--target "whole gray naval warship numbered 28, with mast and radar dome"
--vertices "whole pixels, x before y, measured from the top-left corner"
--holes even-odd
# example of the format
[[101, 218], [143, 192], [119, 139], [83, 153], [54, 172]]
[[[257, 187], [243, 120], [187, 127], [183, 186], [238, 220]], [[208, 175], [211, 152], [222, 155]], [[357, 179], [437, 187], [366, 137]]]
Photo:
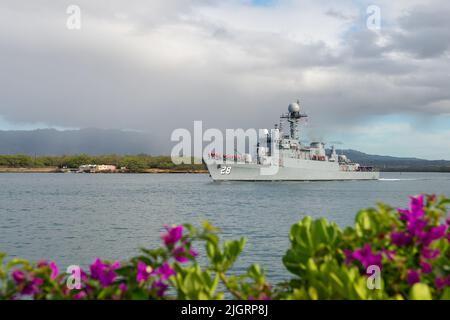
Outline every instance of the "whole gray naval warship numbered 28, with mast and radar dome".
[[[300, 142], [299, 126], [307, 115], [300, 103], [289, 104], [288, 112], [280, 116], [280, 124], [264, 135], [253, 154], [222, 155], [214, 151], [203, 160], [215, 181], [326, 181], [377, 180], [380, 173], [373, 167], [352, 162], [338, 154], [334, 146], [325, 143]], [[287, 132], [283, 129], [287, 127]], [[263, 146], [265, 145], [265, 146]], [[255, 156], [256, 155], [256, 156]]]

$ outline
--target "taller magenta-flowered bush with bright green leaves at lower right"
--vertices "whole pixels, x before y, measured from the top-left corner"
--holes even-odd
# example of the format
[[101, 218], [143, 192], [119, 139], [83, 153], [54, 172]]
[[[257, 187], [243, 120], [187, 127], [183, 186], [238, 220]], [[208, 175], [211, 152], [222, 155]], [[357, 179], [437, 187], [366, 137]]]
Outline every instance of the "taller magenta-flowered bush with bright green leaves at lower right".
[[[305, 218], [291, 229], [283, 262], [298, 276], [285, 288], [299, 299], [450, 299], [449, 199], [419, 195], [409, 208], [360, 211], [354, 228]], [[380, 270], [380, 289], [367, 285]], [[369, 272], [371, 273], [371, 272]]]

